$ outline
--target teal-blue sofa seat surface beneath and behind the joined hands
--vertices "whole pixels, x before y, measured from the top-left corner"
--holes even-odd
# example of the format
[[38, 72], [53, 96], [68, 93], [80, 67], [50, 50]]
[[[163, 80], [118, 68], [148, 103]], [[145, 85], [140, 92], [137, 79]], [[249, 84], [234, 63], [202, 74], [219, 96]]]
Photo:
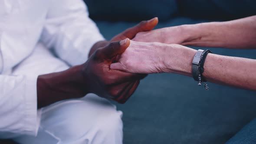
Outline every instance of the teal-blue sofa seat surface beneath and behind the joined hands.
[[[205, 21], [179, 17], [157, 27], [201, 22]], [[106, 39], [136, 24], [96, 23]], [[256, 59], [256, 49], [209, 49], [220, 55]], [[187, 76], [148, 75], [125, 105], [117, 105], [124, 112], [124, 144], [224, 144], [256, 117], [256, 92], [208, 85], [210, 90], [205, 91]]]

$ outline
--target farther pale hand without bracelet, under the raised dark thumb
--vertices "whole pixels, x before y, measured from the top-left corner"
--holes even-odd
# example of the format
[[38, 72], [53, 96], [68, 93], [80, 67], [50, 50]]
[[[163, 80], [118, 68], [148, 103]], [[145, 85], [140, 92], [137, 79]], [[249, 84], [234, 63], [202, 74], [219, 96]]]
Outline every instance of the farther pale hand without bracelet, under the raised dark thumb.
[[188, 33], [184, 31], [183, 26], [172, 26], [154, 29], [148, 32], [140, 32], [132, 40], [137, 42], [158, 42], [183, 45], [188, 40]]

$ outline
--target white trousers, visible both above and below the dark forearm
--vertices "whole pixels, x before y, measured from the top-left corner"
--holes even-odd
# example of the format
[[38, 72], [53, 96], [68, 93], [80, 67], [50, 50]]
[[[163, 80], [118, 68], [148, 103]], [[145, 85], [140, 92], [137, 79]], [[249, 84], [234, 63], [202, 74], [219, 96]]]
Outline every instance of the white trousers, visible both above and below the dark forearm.
[[[47, 74], [68, 69], [42, 44], [13, 69], [13, 74]], [[64, 100], [42, 108], [36, 137], [20, 135], [21, 144], [122, 144], [122, 112], [108, 100], [94, 94]]]

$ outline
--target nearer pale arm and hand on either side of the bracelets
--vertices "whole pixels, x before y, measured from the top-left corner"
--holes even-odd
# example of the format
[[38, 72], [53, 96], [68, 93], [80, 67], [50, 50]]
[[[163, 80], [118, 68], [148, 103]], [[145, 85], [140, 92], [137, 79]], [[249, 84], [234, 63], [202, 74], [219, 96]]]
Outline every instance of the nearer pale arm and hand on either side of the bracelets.
[[[192, 77], [196, 50], [177, 44], [131, 42], [111, 69], [132, 73], [177, 73]], [[256, 60], [208, 54], [203, 76], [207, 81], [256, 91]]]

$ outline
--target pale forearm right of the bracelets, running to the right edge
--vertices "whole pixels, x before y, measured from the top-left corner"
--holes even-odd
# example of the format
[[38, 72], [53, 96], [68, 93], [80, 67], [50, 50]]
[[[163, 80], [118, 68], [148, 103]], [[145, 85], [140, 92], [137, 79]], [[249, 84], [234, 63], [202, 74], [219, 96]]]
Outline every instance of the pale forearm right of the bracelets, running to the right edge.
[[256, 60], [208, 54], [203, 76], [217, 84], [256, 90]]

